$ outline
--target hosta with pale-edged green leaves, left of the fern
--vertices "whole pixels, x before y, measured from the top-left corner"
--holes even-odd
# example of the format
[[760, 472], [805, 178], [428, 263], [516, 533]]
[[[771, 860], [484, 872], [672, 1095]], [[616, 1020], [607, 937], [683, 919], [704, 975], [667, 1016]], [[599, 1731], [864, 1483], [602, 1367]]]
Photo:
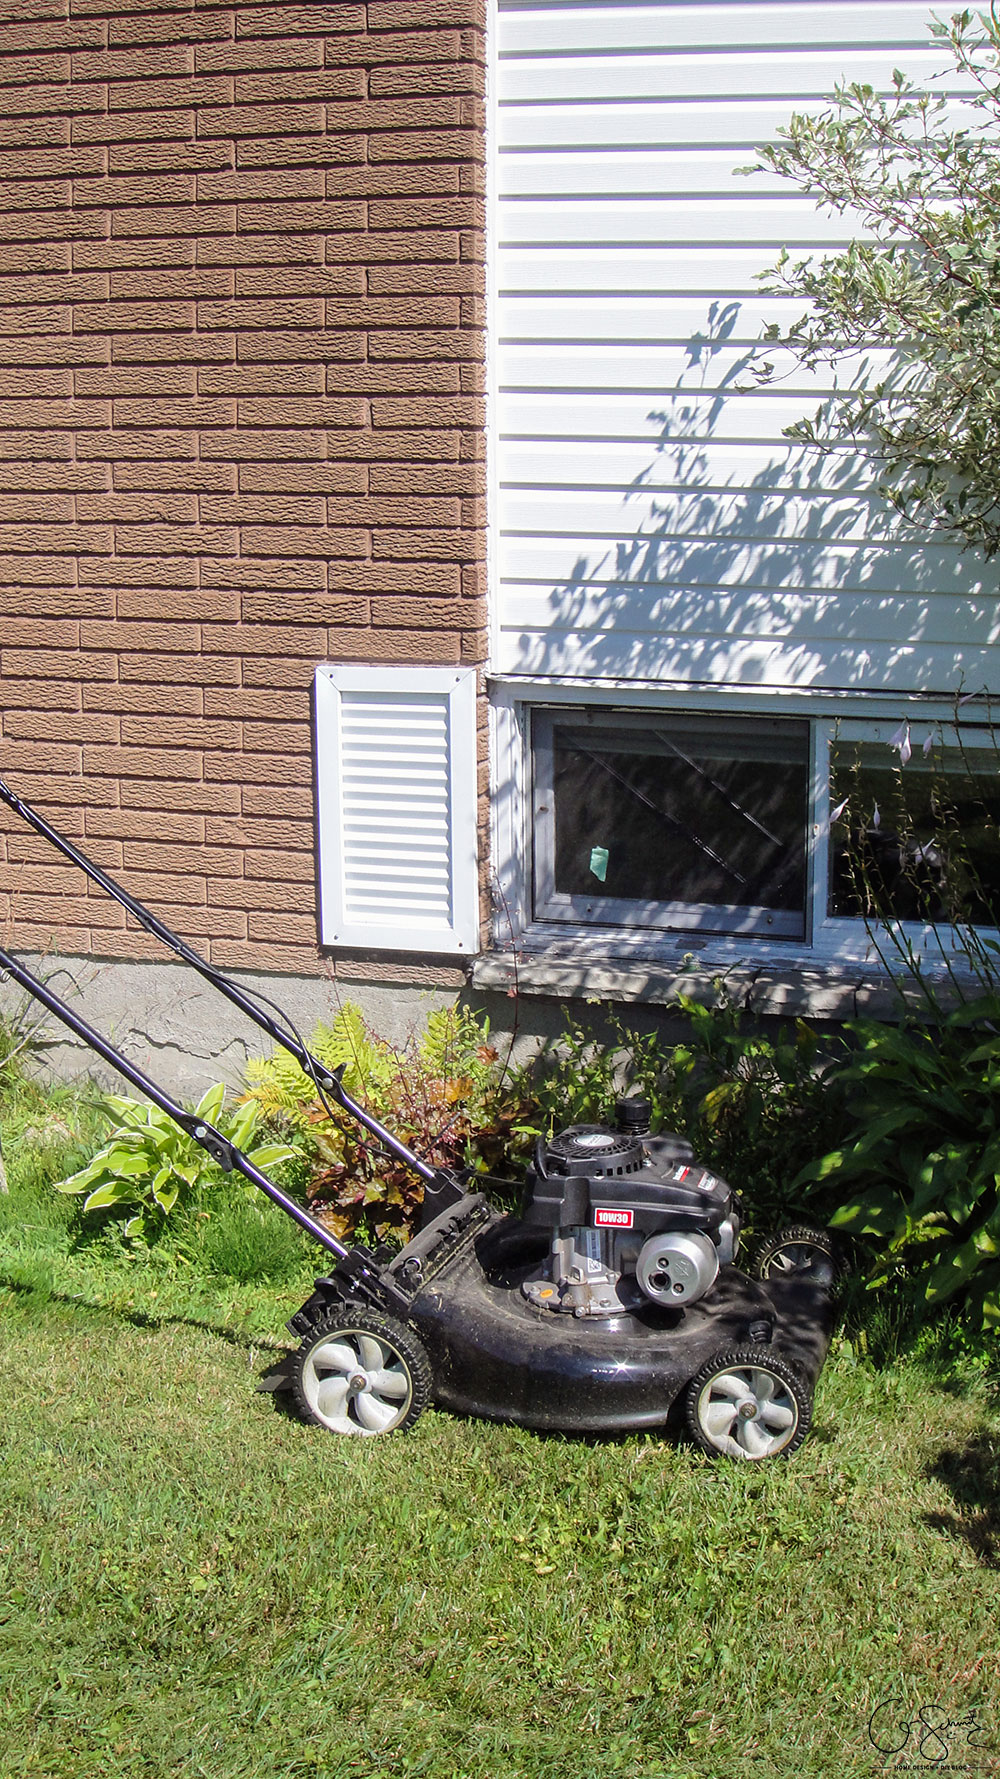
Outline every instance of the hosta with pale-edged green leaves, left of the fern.
[[[196, 1117], [214, 1124], [256, 1167], [276, 1167], [299, 1153], [288, 1142], [263, 1142], [251, 1149], [260, 1107], [251, 1101], [226, 1112], [224, 1099], [226, 1089], [219, 1082], [199, 1099]], [[224, 1179], [206, 1149], [158, 1107], [125, 1094], [109, 1094], [105, 1107], [114, 1119], [107, 1142], [85, 1167], [55, 1187], [57, 1192], [85, 1192], [85, 1211], [132, 1206], [126, 1233], [149, 1236], [169, 1211]]]

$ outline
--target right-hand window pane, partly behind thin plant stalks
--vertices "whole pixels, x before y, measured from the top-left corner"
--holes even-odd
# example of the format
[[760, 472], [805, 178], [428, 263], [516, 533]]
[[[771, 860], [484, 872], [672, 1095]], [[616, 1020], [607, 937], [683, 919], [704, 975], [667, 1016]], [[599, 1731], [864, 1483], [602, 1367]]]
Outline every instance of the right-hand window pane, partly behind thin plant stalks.
[[831, 914], [998, 925], [1000, 753], [836, 742], [831, 808]]

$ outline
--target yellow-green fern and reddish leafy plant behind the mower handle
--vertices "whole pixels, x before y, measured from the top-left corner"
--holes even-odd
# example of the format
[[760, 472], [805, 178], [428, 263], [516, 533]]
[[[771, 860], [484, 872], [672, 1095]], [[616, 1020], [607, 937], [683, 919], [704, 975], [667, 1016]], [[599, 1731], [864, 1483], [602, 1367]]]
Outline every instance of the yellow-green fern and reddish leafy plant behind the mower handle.
[[[347, 1002], [333, 1025], [315, 1028], [310, 1050], [329, 1069], [343, 1069], [347, 1092], [420, 1160], [486, 1169], [502, 1156], [516, 1103], [500, 1094], [502, 1071], [486, 1019], [443, 1007], [429, 1014], [420, 1037], [397, 1048], [370, 1032], [361, 1010]], [[423, 1197], [420, 1179], [336, 1103], [320, 1099], [286, 1051], [253, 1059], [246, 1078], [247, 1103], [285, 1123], [306, 1146], [310, 1204], [335, 1235], [372, 1229], [384, 1240], [409, 1229]]]

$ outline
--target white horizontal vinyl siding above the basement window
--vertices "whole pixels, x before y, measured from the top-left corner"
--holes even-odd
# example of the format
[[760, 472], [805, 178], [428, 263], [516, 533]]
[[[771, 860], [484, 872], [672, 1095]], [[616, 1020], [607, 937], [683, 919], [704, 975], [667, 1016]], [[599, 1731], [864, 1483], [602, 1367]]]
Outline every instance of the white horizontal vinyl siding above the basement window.
[[932, 82], [948, 53], [931, 16], [909, 0], [500, 0], [500, 674], [996, 685], [995, 575], [893, 527], [849, 450], [820, 459], [781, 438], [831, 374], [746, 388], [762, 326], [801, 313], [756, 274], [856, 224], [735, 169], [838, 80]]

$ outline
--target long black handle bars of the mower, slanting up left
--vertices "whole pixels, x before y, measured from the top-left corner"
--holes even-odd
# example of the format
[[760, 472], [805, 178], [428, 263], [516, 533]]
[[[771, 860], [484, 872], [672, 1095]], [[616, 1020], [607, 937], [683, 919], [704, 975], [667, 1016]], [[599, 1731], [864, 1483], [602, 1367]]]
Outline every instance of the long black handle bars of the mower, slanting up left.
[[[114, 881], [114, 877], [109, 877], [109, 873], [100, 868], [100, 865], [94, 865], [94, 861], [89, 859], [87, 854], [80, 850], [80, 847], [75, 847], [73, 841], [66, 838], [66, 834], [60, 834], [57, 827], [52, 827], [52, 824], [46, 822], [44, 817], [39, 815], [39, 811], [34, 809], [30, 802], [25, 802], [23, 797], [18, 797], [16, 792], [12, 792], [11, 786], [2, 777], [0, 777], [0, 799], [16, 815], [20, 815], [21, 820], [28, 824], [28, 827], [34, 827], [36, 834], [41, 834], [43, 840], [48, 840], [48, 843], [53, 845], [59, 852], [62, 852], [64, 857], [71, 859], [73, 865], [78, 865], [80, 870], [85, 872], [93, 882], [100, 884], [101, 890], [105, 890], [110, 897], [114, 897], [114, 900], [119, 902], [121, 907], [126, 909], [126, 913], [132, 914], [139, 922], [139, 925], [146, 929], [146, 932], [151, 932], [155, 939], [160, 939], [162, 945], [167, 945], [173, 952], [176, 952], [176, 955], [181, 957], [185, 964], [196, 970], [199, 977], [205, 977], [205, 980], [212, 984], [212, 987], [219, 989], [221, 994], [231, 1000], [233, 1005], [238, 1007], [240, 1012], [244, 1012], [249, 1019], [253, 1019], [254, 1025], [258, 1025], [263, 1032], [267, 1032], [267, 1035], [272, 1037], [276, 1044], [281, 1044], [281, 1048], [286, 1050], [295, 1059], [302, 1073], [308, 1075], [310, 1080], [317, 1085], [317, 1089], [320, 1091], [320, 1098], [322, 1094], [331, 1094], [333, 1099], [336, 1099], [340, 1108], [347, 1112], [349, 1117], [352, 1117], [372, 1137], [375, 1137], [377, 1142], [381, 1142], [381, 1146], [388, 1149], [388, 1153], [395, 1156], [397, 1162], [402, 1162], [404, 1167], [409, 1167], [411, 1172], [415, 1172], [427, 1187], [431, 1187], [432, 1192], [445, 1190], [445, 1194], [448, 1195], [448, 1192], [457, 1187], [457, 1181], [447, 1169], [431, 1167], [427, 1162], [422, 1162], [420, 1156], [413, 1153], [413, 1149], [407, 1149], [407, 1146], [400, 1142], [399, 1137], [393, 1137], [393, 1133], [386, 1130], [384, 1124], [379, 1124], [379, 1121], [372, 1117], [372, 1114], [367, 1112], [365, 1107], [358, 1105], [358, 1101], [352, 1099], [347, 1089], [343, 1087], [340, 1080], [340, 1071], [327, 1069], [326, 1062], [320, 1062], [319, 1057], [313, 1057], [313, 1053], [306, 1050], [306, 1046], [301, 1042], [295, 1032], [279, 1025], [278, 1019], [272, 1019], [269, 1012], [265, 1012], [262, 1007], [256, 1005], [253, 994], [247, 994], [238, 986], [238, 982], [231, 982], [230, 977], [224, 975], [224, 971], [221, 971], [215, 964], [210, 964], [206, 957], [201, 957], [201, 954], [196, 952], [194, 946], [187, 945], [185, 939], [178, 938], [178, 934], [173, 932], [165, 925], [165, 922], [158, 920], [157, 914], [153, 914], [153, 911], [148, 909], [142, 902], [139, 902], [133, 895], [130, 895], [128, 890], [123, 890], [121, 884]], [[105, 1057], [117, 1069], [121, 1069], [126, 1080], [132, 1080], [137, 1087], [141, 1087], [142, 1092], [148, 1094], [155, 1105], [158, 1105], [164, 1112], [167, 1112], [173, 1119], [176, 1119], [178, 1124], [181, 1124], [187, 1130], [190, 1123], [187, 1112], [183, 1112], [178, 1105], [174, 1105], [174, 1101], [169, 1099], [169, 1096], [164, 1094], [162, 1089], [158, 1089], [153, 1082], [149, 1082], [141, 1069], [137, 1069], [117, 1050], [114, 1050], [114, 1046], [109, 1044], [107, 1039], [100, 1035], [100, 1032], [94, 1032], [85, 1019], [80, 1019], [80, 1016], [75, 1014], [69, 1007], [66, 1007], [66, 1003], [60, 1002], [57, 994], [52, 994], [50, 989], [46, 989], [41, 982], [37, 982], [36, 977], [30, 975], [30, 971], [23, 968], [23, 964], [18, 964], [16, 959], [12, 959], [4, 950], [0, 950], [0, 968], [7, 970], [14, 977], [14, 980], [20, 982], [21, 987], [28, 991], [28, 994], [34, 994], [36, 1000], [41, 1000], [43, 1005], [46, 1005], [50, 1012], [57, 1016], [57, 1019], [62, 1019], [62, 1023], [68, 1025], [71, 1030], [75, 1030], [87, 1044], [91, 1044], [91, 1048], [96, 1050], [98, 1055]], [[194, 1123], [203, 1124], [205, 1121], [194, 1121]], [[194, 1128], [189, 1131], [189, 1135], [194, 1135]], [[214, 1135], [221, 1144], [226, 1144], [226, 1139], [219, 1137], [217, 1131]], [[198, 1137], [196, 1140], [201, 1142], [201, 1137]], [[205, 1147], [210, 1146], [206, 1144]], [[315, 1235], [317, 1240], [322, 1240], [324, 1247], [329, 1247], [331, 1252], [335, 1254], [342, 1256], [347, 1254], [347, 1249], [340, 1242], [335, 1242], [329, 1231], [322, 1228], [322, 1224], [317, 1224], [311, 1217], [306, 1215], [306, 1211], [301, 1211], [292, 1199], [286, 1199], [278, 1187], [270, 1185], [270, 1181], [265, 1181], [265, 1176], [260, 1174], [256, 1169], [253, 1169], [253, 1163], [246, 1162], [246, 1156], [242, 1158], [242, 1162], [235, 1162], [233, 1165], [237, 1165], [240, 1172], [247, 1176], [247, 1179], [253, 1179], [253, 1183], [258, 1185], [262, 1192], [267, 1192], [269, 1197], [274, 1197], [276, 1203], [279, 1203], [283, 1210], [286, 1210], [288, 1215], [295, 1219], [295, 1222], [310, 1229], [310, 1233]], [[247, 1167], [251, 1167], [253, 1172], [247, 1172]]]

